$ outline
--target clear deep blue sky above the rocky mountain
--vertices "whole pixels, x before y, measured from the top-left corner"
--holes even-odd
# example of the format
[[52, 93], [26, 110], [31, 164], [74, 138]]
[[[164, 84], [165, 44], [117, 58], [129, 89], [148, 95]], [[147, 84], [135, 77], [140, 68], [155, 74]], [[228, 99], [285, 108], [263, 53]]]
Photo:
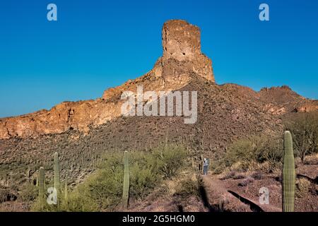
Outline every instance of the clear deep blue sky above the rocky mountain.
[[[58, 21], [47, 20], [57, 4]], [[259, 20], [259, 4], [270, 21]], [[0, 117], [88, 100], [136, 78], [162, 54], [165, 20], [201, 28], [216, 82], [254, 90], [289, 85], [318, 98], [318, 1], [3, 0]]]

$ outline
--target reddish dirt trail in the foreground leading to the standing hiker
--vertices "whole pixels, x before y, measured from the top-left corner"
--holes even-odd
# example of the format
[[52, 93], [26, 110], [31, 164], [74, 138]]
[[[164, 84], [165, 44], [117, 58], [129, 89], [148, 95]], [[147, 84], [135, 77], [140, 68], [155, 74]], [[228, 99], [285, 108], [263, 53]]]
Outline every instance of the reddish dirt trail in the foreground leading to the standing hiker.
[[261, 205], [259, 201], [240, 195], [235, 189], [229, 188], [214, 175], [203, 176], [206, 197], [211, 206], [218, 206], [219, 210], [247, 211], [247, 212], [281, 212], [276, 206]]

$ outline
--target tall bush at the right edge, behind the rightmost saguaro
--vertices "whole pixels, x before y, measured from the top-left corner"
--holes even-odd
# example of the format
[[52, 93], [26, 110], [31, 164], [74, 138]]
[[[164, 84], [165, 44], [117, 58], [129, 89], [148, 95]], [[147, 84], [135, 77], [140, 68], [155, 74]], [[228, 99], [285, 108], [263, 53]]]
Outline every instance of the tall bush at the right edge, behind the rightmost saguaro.
[[318, 153], [318, 113], [301, 113], [285, 120], [285, 127], [293, 136], [293, 148], [302, 162], [306, 155]]

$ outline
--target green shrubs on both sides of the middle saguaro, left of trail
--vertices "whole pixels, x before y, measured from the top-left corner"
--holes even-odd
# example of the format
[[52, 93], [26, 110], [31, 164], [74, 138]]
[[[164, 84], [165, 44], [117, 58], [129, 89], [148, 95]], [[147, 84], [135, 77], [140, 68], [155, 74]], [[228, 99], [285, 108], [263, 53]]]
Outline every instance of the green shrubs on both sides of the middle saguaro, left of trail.
[[[59, 205], [35, 201], [35, 211], [102, 211], [120, 209], [124, 179], [124, 152], [105, 153], [102, 164], [83, 184], [62, 193]], [[129, 201], [147, 196], [164, 179], [175, 176], [184, 165], [186, 152], [182, 146], [169, 145], [151, 152], [129, 153]]]

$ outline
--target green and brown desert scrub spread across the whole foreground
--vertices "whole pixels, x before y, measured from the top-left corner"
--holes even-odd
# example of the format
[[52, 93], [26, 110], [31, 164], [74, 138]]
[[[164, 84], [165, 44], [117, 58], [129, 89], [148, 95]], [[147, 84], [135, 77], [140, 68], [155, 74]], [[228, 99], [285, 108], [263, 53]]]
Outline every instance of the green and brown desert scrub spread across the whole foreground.
[[[313, 157], [312, 153], [317, 153], [317, 114], [298, 114], [298, 117], [293, 118], [293, 120], [286, 121], [285, 129], [290, 129], [293, 137], [296, 167], [297, 165], [302, 167], [300, 160], [317, 161], [317, 158], [307, 157], [308, 155]], [[217, 174], [223, 172], [221, 180], [225, 180], [225, 182], [227, 179], [236, 180], [235, 184], [238, 187], [243, 187], [241, 189], [249, 184], [257, 183], [257, 180], [266, 179], [266, 173], [274, 172], [276, 174], [277, 172], [281, 174], [284, 151], [282, 131], [277, 131], [277, 134], [265, 135], [262, 133], [240, 138], [228, 144], [225, 152], [217, 152], [211, 157], [210, 169]], [[189, 172], [191, 160], [192, 172], [194, 169], [200, 168], [197, 165], [201, 164], [202, 157], [198, 157], [201, 153], [204, 152], [186, 153], [185, 148], [181, 145], [163, 145], [147, 151], [129, 151], [129, 203], [136, 206], [136, 203], [147, 200], [152, 192], [154, 196], [162, 194], [161, 184], [166, 185], [166, 196], [172, 197], [174, 201], [177, 200], [176, 203], [188, 198], [199, 198], [200, 184], [187, 172]], [[217, 154], [218, 158], [216, 158]], [[84, 182], [80, 182], [80, 184], [76, 182], [75, 188], [68, 187], [67, 196], [64, 191], [64, 182], [61, 182], [57, 205], [48, 205], [46, 198], [40, 201], [38, 198], [39, 187], [29, 181], [21, 189], [18, 189], [18, 197], [15, 198], [18, 201], [28, 203], [28, 205], [33, 203], [31, 210], [34, 211], [124, 210], [126, 207], [122, 205], [123, 158], [124, 150], [112, 150], [105, 153], [101, 157], [98, 169], [86, 177]], [[98, 162], [100, 162], [100, 158], [98, 158]], [[185, 169], [186, 162], [188, 162], [188, 168], [181, 170]], [[54, 186], [51, 176], [53, 167], [45, 169], [49, 174], [45, 181], [45, 191], [47, 191], [47, 188]], [[27, 179], [32, 178], [28, 177]], [[172, 181], [173, 183], [169, 183]], [[300, 179], [296, 183], [295, 196], [304, 198], [310, 189], [312, 189], [310, 182]], [[12, 198], [8, 198], [5, 191], [2, 195], [0, 193], [0, 202], [1, 199], [8, 201]], [[131, 205], [130, 208], [134, 209], [134, 206]]]

